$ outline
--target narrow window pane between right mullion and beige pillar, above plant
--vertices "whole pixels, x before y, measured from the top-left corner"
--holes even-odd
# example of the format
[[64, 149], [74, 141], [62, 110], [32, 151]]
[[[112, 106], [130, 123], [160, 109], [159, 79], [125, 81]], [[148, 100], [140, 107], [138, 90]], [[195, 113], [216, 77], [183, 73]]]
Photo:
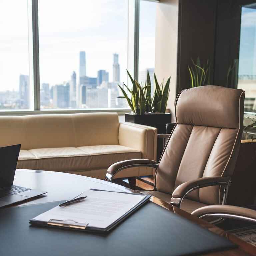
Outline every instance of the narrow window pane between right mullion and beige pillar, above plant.
[[156, 2], [140, 1], [139, 20], [139, 82], [145, 83], [147, 71], [154, 92]]

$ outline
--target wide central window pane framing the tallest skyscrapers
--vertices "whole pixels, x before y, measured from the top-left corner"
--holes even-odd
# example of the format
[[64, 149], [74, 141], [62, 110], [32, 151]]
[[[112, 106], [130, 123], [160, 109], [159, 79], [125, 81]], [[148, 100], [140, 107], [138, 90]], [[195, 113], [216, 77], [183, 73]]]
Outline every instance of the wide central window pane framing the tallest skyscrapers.
[[38, 1], [41, 109], [127, 107], [128, 1]]

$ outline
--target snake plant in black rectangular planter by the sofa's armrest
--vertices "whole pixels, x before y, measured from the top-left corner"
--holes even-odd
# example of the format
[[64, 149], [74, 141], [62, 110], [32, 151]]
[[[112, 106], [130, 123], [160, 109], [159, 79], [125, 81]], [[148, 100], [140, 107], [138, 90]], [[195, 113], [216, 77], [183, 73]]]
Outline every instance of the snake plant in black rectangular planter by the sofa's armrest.
[[[144, 86], [142, 83], [140, 84], [133, 79], [128, 70], [127, 73], [133, 85], [132, 89], [129, 89], [124, 83], [124, 87], [118, 85], [124, 95], [118, 98], [126, 99], [132, 110], [131, 113], [125, 114], [125, 121], [153, 126], [158, 129], [158, 133], [166, 133], [166, 124], [171, 123], [171, 113], [165, 113], [170, 92], [171, 77], [168, 78], [164, 86], [164, 82], [159, 85], [156, 75], [154, 74], [155, 91], [153, 98], [151, 98], [149, 72], [147, 73], [147, 81]], [[127, 89], [130, 98], [124, 88]]]

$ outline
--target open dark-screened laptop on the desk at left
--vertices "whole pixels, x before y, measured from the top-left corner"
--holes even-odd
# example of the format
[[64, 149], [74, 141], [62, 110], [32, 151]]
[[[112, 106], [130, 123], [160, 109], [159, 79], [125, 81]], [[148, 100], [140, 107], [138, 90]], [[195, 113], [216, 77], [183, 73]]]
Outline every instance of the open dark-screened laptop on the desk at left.
[[0, 208], [47, 193], [13, 185], [20, 147], [21, 144], [0, 148]]

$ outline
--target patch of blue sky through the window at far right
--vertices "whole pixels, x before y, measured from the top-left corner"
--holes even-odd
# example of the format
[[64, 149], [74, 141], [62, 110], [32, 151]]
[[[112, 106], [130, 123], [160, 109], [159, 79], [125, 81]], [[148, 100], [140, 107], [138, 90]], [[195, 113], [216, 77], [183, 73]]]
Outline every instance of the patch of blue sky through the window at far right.
[[239, 75], [256, 75], [256, 9], [242, 7]]

